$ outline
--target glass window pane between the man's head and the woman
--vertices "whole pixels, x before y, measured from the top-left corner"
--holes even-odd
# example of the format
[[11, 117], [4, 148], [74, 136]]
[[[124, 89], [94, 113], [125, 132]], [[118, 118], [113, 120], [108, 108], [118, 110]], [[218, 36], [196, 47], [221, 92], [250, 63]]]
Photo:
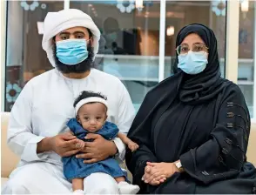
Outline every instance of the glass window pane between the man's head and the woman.
[[159, 2], [71, 1], [89, 14], [102, 33], [95, 66], [125, 84], [136, 110], [158, 84]]

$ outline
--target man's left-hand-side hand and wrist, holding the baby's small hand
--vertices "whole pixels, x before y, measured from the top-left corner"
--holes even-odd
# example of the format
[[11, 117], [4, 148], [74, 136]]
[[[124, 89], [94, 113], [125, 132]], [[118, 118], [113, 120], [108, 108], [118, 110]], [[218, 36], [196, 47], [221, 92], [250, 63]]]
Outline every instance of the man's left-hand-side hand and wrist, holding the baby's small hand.
[[78, 141], [70, 132], [44, 138], [37, 144], [37, 153], [55, 151], [61, 157], [70, 157], [80, 151], [77, 146]]

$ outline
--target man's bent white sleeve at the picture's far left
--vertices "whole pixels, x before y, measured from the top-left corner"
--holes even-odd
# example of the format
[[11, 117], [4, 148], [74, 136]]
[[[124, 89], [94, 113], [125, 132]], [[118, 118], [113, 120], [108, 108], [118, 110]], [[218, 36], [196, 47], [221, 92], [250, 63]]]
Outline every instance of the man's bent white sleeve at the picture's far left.
[[[7, 143], [11, 151], [27, 162], [41, 160], [48, 156], [44, 152], [37, 154], [37, 143], [40, 143], [45, 137], [33, 134], [31, 125], [32, 97], [32, 84], [28, 82], [11, 109], [7, 133]], [[43, 151], [48, 150], [43, 146]]]

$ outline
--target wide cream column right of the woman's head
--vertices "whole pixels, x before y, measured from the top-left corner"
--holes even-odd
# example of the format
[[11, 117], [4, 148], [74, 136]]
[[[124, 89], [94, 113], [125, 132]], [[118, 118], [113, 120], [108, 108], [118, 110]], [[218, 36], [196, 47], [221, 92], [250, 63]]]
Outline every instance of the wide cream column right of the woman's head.
[[226, 1], [226, 78], [237, 84], [239, 59], [239, 1]]

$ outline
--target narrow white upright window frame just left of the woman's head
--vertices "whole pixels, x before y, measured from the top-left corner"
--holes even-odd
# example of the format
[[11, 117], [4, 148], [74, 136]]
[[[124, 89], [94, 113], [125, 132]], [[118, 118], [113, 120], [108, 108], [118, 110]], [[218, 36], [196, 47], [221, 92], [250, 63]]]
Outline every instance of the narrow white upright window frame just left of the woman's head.
[[166, 0], [160, 1], [160, 29], [159, 29], [159, 67], [158, 81], [165, 78], [165, 16]]

